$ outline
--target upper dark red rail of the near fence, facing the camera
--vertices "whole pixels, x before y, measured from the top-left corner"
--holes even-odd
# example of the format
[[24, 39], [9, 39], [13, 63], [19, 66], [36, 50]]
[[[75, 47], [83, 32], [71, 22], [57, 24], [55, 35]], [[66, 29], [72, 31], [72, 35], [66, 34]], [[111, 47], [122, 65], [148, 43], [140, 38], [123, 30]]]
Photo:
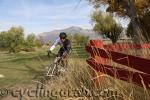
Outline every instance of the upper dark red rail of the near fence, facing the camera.
[[100, 57], [111, 59], [116, 63], [123, 64], [150, 74], [150, 59], [140, 58], [114, 51], [105, 51], [101, 48], [90, 46], [86, 46], [86, 50], [90, 53], [95, 51]]

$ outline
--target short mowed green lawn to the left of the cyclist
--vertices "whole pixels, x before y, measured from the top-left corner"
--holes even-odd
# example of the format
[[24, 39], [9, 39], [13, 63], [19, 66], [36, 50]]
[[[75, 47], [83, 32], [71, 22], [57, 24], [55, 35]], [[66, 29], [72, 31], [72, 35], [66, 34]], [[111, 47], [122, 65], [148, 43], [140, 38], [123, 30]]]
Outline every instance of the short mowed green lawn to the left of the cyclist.
[[[51, 64], [54, 57], [47, 57], [47, 48], [38, 48], [35, 52], [0, 52], [0, 86], [13, 87], [19, 84], [32, 84], [43, 75], [44, 68]], [[57, 50], [56, 50], [57, 51]], [[54, 51], [56, 53], [56, 51]], [[70, 57], [71, 62], [85, 62], [85, 57]]]

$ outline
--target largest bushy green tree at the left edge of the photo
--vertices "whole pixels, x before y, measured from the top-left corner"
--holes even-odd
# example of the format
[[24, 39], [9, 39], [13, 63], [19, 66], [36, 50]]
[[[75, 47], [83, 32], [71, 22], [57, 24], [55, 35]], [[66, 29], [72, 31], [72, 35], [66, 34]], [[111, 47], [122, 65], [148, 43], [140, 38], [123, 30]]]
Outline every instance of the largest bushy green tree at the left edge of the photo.
[[9, 49], [10, 52], [17, 52], [24, 41], [24, 30], [22, 27], [11, 27], [8, 31], [0, 34], [0, 47]]

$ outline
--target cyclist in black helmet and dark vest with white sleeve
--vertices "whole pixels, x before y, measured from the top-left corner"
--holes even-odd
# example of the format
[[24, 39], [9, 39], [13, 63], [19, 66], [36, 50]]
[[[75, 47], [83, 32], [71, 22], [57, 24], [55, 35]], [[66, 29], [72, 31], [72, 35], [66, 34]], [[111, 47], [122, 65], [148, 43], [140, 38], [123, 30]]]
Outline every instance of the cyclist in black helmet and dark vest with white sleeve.
[[65, 64], [67, 64], [67, 58], [68, 55], [71, 52], [71, 42], [69, 39], [67, 39], [67, 34], [65, 32], [61, 32], [59, 34], [59, 38], [56, 39], [56, 41], [54, 42], [54, 44], [49, 48], [48, 50], [48, 56], [49, 54], [52, 53], [52, 51], [55, 49], [55, 47], [57, 45], [60, 45], [60, 49], [58, 51], [58, 57], [62, 57], [64, 60], [62, 60], [64, 66], [66, 66]]

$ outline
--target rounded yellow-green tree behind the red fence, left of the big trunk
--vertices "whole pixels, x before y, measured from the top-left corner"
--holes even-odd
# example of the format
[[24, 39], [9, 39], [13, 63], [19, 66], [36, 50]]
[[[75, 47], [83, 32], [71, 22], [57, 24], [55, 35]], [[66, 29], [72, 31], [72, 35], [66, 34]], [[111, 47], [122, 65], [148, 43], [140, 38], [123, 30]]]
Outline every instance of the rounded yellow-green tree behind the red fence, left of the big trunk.
[[123, 28], [120, 24], [117, 24], [111, 14], [104, 14], [96, 10], [93, 12], [91, 19], [95, 23], [94, 31], [110, 38], [112, 43], [117, 42]]

